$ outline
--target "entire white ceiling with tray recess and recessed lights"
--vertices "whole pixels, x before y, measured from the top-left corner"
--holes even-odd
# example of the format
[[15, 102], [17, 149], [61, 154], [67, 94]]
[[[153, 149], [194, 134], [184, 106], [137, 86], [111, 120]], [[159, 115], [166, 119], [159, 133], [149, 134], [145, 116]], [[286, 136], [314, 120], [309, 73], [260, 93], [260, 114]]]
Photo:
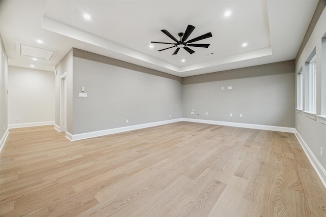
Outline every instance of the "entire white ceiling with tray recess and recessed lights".
[[[294, 59], [317, 4], [318, 0], [1, 1], [0, 34], [10, 66], [54, 71], [75, 47], [186, 77]], [[226, 11], [231, 15], [226, 17]], [[151, 41], [174, 43], [161, 29], [179, 39], [188, 24], [196, 27], [188, 40], [212, 33], [196, 42], [210, 44], [208, 48], [191, 47], [193, 54], [180, 49], [172, 55], [175, 48], [156, 51], [170, 45], [149, 47]], [[21, 55], [19, 44], [56, 53], [50, 60], [33, 60]]]

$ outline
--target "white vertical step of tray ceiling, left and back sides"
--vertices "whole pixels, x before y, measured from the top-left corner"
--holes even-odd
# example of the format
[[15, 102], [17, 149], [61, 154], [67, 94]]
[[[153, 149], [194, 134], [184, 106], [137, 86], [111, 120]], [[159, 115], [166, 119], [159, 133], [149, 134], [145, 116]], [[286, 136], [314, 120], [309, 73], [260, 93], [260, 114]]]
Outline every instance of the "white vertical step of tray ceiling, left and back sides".
[[[119, 60], [127, 61], [129, 63], [135, 63], [143, 67], [148, 67], [151, 69], [155, 69], [161, 72], [166, 72], [174, 75], [175, 73], [177, 74], [186, 73], [189, 71], [194, 71], [199, 69], [222, 66], [222, 65], [242, 61], [242, 60], [253, 59], [253, 58], [268, 56], [272, 54], [272, 49], [270, 46], [262, 49], [226, 56], [219, 59], [213, 59], [198, 64], [178, 67], [173, 64], [169, 64], [166, 61], [162, 61], [160, 59], [149, 56], [147, 54], [129, 49], [123, 45], [108, 41], [106, 39], [87, 33], [83, 30], [74, 28], [62, 22], [53, 20], [46, 16], [43, 17], [41, 27], [50, 30], [51, 32], [55, 32], [79, 41], [86, 42], [88, 44], [95, 45], [97, 47], [104, 48], [108, 51], [106, 53], [106, 56], [108, 57], [117, 58]], [[114, 52], [114, 55], [110, 55], [110, 52]], [[135, 62], [135, 60], [137, 60], [137, 62]]]

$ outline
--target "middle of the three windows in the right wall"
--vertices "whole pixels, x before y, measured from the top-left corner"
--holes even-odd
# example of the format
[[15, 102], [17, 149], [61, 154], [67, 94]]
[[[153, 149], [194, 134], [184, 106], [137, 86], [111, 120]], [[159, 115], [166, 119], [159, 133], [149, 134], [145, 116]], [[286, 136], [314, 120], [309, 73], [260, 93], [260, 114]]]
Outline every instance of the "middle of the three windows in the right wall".
[[309, 111], [316, 113], [316, 55], [309, 61]]

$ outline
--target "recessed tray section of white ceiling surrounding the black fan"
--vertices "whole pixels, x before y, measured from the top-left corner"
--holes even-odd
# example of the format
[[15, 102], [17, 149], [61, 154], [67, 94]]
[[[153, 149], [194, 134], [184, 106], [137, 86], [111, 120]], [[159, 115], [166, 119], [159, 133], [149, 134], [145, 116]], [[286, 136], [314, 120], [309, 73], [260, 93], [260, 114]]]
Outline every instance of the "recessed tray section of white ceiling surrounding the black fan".
[[[173, 7], [170, 3], [67, 1], [63, 7], [62, 1], [48, 1], [42, 28], [114, 52], [121, 60], [175, 75], [200, 70], [206, 73], [216, 66], [272, 54], [266, 1], [205, 1], [206, 16], [200, 12], [201, 17], [194, 16], [196, 19], [189, 16], [180, 19], [175, 15], [180, 14], [180, 8], [184, 11], [194, 11], [196, 8], [203, 11], [202, 1], [187, 4], [175, 1]], [[160, 10], [157, 11], [157, 8]], [[228, 8], [233, 11], [232, 22], [224, 17], [224, 11]], [[85, 11], [92, 16], [90, 23], [86, 24], [83, 22]], [[172, 18], [167, 18], [167, 14]], [[130, 19], [130, 16], [134, 19]], [[150, 17], [155, 17], [155, 21], [151, 21]], [[254, 25], [247, 24], [253, 22]], [[174, 56], [174, 49], [155, 51], [170, 46], [155, 44], [154, 50], [148, 49], [150, 41], [171, 42], [160, 29], [167, 29], [177, 38], [177, 33], [184, 32], [187, 24], [196, 26], [189, 39], [212, 33], [212, 38], [198, 42], [209, 43], [208, 49], [196, 47], [196, 53], [192, 55], [181, 49], [184, 53], [179, 52]], [[239, 35], [244, 41], [239, 41]], [[247, 41], [251, 46], [241, 47]], [[186, 59], [184, 63], [181, 56]]]

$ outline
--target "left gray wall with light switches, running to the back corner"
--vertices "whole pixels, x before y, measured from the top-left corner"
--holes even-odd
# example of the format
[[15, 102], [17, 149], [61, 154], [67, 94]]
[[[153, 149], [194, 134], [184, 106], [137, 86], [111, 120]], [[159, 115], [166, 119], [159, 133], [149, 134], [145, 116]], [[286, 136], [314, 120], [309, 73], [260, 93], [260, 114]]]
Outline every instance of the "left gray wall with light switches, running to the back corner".
[[181, 117], [181, 78], [73, 49], [72, 134]]

